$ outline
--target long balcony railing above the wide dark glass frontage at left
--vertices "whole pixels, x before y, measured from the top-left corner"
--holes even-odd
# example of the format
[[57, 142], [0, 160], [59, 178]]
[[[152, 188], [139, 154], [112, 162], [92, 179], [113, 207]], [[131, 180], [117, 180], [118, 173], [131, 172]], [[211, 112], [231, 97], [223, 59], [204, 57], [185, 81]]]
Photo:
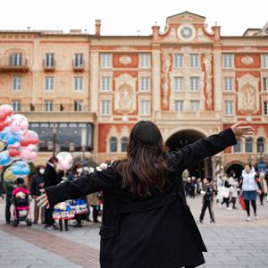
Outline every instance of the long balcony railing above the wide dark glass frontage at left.
[[29, 104], [17, 106], [16, 113], [87, 113], [90, 112], [88, 105], [71, 104]]

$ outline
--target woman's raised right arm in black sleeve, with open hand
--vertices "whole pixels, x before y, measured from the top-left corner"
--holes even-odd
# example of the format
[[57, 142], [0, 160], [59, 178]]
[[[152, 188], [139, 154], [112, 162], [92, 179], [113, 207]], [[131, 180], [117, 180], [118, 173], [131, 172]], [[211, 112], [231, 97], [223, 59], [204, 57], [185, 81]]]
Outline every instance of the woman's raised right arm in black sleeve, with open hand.
[[237, 138], [247, 138], [254, 133], [252, 127], [242, 127], [241, 122], [233, 125], [230, 129], [222, 130], [218, 134], [202, 138], [196, 142], [171, 152], [172, 163], [177, 169], [184, 170], [188, 166], [222, 152], [225, 148], [237, 143]]

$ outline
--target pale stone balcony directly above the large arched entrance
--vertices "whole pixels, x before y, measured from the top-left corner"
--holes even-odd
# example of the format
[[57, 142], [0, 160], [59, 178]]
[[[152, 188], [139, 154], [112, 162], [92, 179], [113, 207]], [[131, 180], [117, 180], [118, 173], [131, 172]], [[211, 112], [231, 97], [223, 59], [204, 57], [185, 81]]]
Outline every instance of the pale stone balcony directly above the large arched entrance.
[[214, 111], [204, 112], [155, 112], [155, 121], [219, 121], [221, 114]]

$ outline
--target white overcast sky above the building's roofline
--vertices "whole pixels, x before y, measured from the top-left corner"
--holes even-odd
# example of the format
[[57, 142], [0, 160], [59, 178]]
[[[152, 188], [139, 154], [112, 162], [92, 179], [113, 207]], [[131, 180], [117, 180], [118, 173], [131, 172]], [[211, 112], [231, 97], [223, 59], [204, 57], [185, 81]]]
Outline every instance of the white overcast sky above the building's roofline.
[[103, 35], [151, 34], [165, 19], [188, 11], [206, 17], [210, 28], [217, 21], [222, 35], [240, 36], [247, 28], [263, 28], [268, 21], [267, 0], [2, 0], [0, 29], [87, 29], [95, 20]]

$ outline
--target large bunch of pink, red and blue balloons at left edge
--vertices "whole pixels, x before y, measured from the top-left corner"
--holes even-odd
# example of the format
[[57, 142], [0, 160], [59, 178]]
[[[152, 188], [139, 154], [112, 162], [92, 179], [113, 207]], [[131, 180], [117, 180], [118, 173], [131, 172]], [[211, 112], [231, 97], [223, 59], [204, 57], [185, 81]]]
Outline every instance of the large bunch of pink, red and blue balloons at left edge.
[[24, 115], [14, 114], [11, 105], [0, 105], [0, 171], [12, 164], [4, 172], [4, 180], [28, 176], [28, 163], [38, 157], [38, 133], [28, 128]]

